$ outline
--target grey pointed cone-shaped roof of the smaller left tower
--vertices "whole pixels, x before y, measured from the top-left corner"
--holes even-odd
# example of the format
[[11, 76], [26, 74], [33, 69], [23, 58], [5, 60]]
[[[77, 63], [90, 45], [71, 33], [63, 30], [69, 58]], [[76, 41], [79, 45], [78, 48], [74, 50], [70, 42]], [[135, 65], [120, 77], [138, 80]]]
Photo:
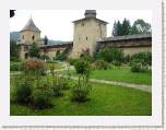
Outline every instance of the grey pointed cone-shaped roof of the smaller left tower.
[[39, 28], [36, 27], [32, 17], [28, 20], [27, 24], [24, 26], [24, 28], [22, 31], [34, 31], [34, 32], [39, 32], [40, 33]]

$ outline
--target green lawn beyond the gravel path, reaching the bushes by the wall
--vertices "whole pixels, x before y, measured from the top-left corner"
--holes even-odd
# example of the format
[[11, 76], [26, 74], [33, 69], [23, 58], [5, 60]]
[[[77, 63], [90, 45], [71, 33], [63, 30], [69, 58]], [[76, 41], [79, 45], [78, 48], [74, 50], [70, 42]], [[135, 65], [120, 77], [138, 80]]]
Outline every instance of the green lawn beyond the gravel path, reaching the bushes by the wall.
[[[70, 71], [76, 75], [75, 71]], [[92, 79], [119, 81], [135, 84], [152, 84], [152, 74], [150, 72], [131, 72], [129, 67], [112, 68], [110, 70], [95, 70], [92, 72]]]

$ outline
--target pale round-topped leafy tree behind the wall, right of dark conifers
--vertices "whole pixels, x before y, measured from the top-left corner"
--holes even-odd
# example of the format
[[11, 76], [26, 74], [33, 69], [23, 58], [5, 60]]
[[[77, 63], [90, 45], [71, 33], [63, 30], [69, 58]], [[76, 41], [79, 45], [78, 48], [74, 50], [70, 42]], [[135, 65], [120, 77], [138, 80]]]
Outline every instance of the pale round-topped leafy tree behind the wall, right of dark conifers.
[[137, 20], [131, 29], [130, 29], [130, 34], [151, 34], [152, 29], [151, 29], [151, 24], [144, 22], [143, 20]]

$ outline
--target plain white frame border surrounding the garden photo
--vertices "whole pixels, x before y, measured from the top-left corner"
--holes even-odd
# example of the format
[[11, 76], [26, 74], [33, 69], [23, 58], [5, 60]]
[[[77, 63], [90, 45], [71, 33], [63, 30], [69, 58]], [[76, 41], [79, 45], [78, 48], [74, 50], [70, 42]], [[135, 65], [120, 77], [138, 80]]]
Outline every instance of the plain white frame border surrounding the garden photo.
[[[119, 4], [120, 3], [120, 4]], [[2, 126], [162, 126], [162, 1], [161, 0], [7, 0], [0, 5], [0, 123]], [[152, 116], [10, 116], [9, 10], [152, 10]]]

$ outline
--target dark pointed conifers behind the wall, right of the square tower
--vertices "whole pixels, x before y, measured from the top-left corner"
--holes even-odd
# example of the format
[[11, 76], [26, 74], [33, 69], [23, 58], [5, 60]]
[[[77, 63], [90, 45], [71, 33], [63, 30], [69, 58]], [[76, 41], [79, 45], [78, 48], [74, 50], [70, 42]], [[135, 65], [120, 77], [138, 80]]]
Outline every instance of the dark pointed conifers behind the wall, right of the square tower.
[[130, 21], [124, 19], [122, 23], [120, 21], [114, 23], [112, 27], [112, 36], [123, 36], [123, 35], [129, 35], [130, 33]]

